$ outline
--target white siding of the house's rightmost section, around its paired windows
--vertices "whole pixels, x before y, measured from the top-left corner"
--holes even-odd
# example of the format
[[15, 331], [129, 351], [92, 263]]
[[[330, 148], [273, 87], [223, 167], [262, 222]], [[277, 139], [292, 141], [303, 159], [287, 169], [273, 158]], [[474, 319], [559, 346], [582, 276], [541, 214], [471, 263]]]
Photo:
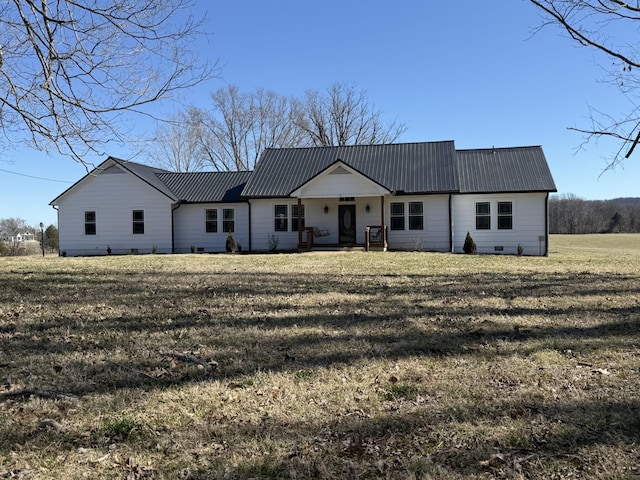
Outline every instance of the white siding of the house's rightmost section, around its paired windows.
[[[454, 252], [462, 253], [464, 239], [469, 232], [478, 253], [517, 254], [518, 245], [521, 245], [525, 255], [544, 255], [545, 240], [540, 238], [546, 238], [545, 201], [545, 193], [454, 195]], [[489, 230], [476, 229], [476, 202], [489, 202], [491, 205]], [[511, 230], [499, 230], [497, 227], [498, 202], [512, 202]]]

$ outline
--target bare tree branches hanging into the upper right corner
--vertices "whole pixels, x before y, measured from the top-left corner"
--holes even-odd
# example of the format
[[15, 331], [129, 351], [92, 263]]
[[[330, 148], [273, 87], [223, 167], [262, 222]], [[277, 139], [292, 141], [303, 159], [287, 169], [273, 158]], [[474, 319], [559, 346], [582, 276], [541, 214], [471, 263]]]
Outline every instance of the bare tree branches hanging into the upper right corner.
[[[544, 25], [559, 25], [579, 45], [598, 52], [607, 60], [609, 80], [629, 99], [626, 112], [590, 109], [591, 125], [572, 128], [587, 139], [609, 137], [619, 142], [609, 167], [629, 158], [640, 142], [640, 105], [637, 101], [640, 50], [640, 4], [622, 0], [531, 0], [548, 19]], [[543, 26], [544, 26], [543, 25]]]

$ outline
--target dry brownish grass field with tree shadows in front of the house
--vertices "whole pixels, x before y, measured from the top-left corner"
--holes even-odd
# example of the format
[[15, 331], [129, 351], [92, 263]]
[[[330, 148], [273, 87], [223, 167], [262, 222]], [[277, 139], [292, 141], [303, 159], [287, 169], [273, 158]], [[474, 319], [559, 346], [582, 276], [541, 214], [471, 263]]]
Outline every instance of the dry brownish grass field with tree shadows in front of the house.
[[640, 478], [640, 236], [0, 258], [0, 478]]

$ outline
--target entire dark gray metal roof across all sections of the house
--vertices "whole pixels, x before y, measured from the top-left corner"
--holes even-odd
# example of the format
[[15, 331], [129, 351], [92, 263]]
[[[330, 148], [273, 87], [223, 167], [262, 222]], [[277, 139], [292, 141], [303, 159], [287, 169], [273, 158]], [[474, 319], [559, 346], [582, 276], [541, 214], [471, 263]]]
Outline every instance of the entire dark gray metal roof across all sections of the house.
[[114, 164], [175, 201], [207, 203], [288, 197], [337, 161], [395, 195], [557, 191], [539, 146], [456, 150], [444, 141], [266, 149], [254, 172], [173, 173], [109, 157], [51, 205]]

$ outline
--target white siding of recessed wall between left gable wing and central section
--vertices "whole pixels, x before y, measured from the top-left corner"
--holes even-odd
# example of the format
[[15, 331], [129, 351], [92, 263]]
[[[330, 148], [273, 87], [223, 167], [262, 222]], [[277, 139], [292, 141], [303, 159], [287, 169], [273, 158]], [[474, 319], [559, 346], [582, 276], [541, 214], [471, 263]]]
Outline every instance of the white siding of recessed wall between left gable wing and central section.
[[[206, 203], [185, 204], [175, 209], [174, 220], [174, 246], [175, 253], [189, 253], [193, 245], [194, 251], [225, 252], [228, 233], [223, 231], [222, 222], [224, 209], [234, 211], [233, 238], [242, 246], [243, 250], [249, 249], [249, 206], [247, 203]], [[217, 210], [218, 231], [207, 232], [205, 228], [206, 210]]]

